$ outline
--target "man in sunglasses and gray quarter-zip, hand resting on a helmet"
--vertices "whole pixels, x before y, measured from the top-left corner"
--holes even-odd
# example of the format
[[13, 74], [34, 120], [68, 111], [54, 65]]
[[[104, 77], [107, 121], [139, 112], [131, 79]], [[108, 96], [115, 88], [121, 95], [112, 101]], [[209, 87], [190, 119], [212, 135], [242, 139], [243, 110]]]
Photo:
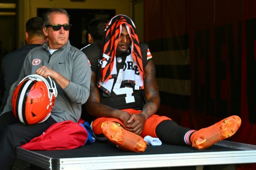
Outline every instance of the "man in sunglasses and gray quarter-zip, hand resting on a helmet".
[[17, 82], [31, 74], [49, 76], [56, 82], [58, 96], [51, 116], [42, 123], [32, 125], [22, 125], [15, 119], [11, 107], [12, 94], [8, 97], [8, 102], [0, 115], [1, 170], [12, 167], [16, 146], [41, 135], [56, 122], [77, 122], [81, 116], [81, 105], [89, 96], [90, 65], [85, 54], [70, 45], [68, 38], [71, 25], [66, 10], [48, 10], [44, 14], [43, 25], [48, 42], [28, 53]]

